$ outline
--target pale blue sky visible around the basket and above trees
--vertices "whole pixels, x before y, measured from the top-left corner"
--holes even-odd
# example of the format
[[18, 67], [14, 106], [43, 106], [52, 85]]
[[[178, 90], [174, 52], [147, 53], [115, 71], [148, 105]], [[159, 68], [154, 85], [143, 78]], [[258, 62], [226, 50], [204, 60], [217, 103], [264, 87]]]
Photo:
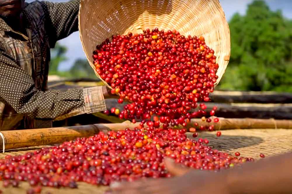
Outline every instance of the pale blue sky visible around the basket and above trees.
[[[32, 2], [33, 0], [27, 0]], [[50, 1], [50, 0], [49, 0]], [[64, 2], [66, 0], [51, 0], [52, 2]], [[220, 0], [220, 4], [225, 12], [227, 20], [230, 20], [234, 13], [245, 14], [247, 5], [253, 0]], [[265, 0], [270, 9], [281, 10], [283, 15], [292, 19], [292, 1], [291, 0]], [[79, 32], [72, 33], [69, 37], [59, 41], [61, 45], [65, 45], [68, 50], [66, 53], [67, 61], [62, 62], [59, 70], [68, 70], [78, 58], [85, 59], [79, 39]]]

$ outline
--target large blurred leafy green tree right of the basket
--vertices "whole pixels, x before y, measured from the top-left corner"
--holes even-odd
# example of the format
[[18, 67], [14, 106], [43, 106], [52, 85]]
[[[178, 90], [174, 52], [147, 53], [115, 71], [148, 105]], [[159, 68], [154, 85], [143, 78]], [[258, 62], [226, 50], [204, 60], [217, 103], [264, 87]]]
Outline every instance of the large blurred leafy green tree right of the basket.
[[218, 87], [292, 92], [292, 21], [256, 0], [229, 27], [230, 63]]

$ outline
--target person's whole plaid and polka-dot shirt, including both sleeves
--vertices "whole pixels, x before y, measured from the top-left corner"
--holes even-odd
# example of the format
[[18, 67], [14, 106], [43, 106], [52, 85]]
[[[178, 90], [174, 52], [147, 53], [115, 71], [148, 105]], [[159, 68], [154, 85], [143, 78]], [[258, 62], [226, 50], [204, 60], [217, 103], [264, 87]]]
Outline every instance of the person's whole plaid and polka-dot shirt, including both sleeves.
[[0, 18], [0, 130], [51, 127], [53, 119], [106, 110], [101, 87], [47, 90], [50, 48], [78, 31], [79, 1], [26, 3], [26, 34]]

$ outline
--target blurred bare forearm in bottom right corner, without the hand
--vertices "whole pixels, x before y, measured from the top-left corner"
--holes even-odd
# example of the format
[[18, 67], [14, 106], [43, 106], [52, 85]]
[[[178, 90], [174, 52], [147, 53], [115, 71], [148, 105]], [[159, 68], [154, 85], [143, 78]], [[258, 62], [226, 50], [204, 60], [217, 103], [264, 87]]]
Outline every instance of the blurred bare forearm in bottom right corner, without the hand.
[[292, 193], [292, 153], [247, 163], [226, 171], [231, 194]]

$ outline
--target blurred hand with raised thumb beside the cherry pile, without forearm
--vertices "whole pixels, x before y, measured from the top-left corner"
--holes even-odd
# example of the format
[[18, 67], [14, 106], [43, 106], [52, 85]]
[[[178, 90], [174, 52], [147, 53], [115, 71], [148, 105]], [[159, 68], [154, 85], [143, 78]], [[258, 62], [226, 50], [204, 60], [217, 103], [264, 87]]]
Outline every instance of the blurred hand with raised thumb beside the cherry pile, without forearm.
[[144, 179], [131, 183], [111, 184], [112, 194], [228, 194], [223, 173], [190, 170], [165, 160], [168, 172], [177, 176], [164, 179]]

